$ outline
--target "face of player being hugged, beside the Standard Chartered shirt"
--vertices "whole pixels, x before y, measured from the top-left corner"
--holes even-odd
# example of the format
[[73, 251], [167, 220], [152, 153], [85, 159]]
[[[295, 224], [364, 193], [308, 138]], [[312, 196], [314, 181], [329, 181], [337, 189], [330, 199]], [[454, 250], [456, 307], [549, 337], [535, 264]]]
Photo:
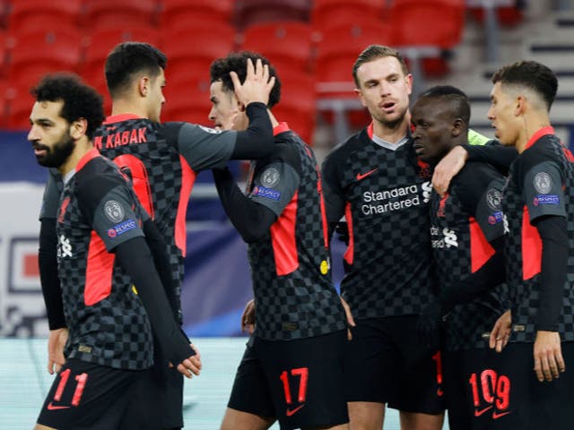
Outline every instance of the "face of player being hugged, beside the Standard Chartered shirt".
[[419, 99], [411, 112], [416, 155], [436, 164], [452, 148], [454, 116], [450, 104], [437, 99]]

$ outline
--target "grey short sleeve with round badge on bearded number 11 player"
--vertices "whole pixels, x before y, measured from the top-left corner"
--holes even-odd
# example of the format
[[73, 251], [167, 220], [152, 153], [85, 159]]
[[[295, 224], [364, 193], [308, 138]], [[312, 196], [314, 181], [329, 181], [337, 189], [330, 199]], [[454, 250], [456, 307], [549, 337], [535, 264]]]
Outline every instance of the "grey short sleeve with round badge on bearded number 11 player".
[[136, 214], [139, 203], [127, 186], [123, 178], [118, 178], [84, 184], [78, 192], [80, 208], [109, 252], [133, 237], [143, 236], [142, 219]]

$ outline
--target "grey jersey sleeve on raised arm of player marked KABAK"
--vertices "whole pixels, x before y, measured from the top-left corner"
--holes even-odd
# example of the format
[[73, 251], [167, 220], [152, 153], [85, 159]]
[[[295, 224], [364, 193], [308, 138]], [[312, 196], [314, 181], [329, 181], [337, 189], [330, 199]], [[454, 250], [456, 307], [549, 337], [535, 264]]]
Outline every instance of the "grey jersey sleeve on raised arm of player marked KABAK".
[[230, 160], [237, 132], [184, 123], [178, 132], [178, 150], [196, 172], [223, 168]]

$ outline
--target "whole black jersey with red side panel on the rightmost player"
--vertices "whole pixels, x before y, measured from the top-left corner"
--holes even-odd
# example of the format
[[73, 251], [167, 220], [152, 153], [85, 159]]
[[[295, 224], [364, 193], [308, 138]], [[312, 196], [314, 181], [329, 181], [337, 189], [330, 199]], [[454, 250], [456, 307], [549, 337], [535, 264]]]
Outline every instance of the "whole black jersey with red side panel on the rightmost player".
[[509, 230], [507, 277], [512, 305], [510, 341], [533, 342], [540, 307], [542, 241], [532, 226], [545, 215], [567, 219], [568, 276], [559, 320], [561, 340], [574, 340], [574, 159], [552, 127], [540, 129], [510, 167], [503, 193]]

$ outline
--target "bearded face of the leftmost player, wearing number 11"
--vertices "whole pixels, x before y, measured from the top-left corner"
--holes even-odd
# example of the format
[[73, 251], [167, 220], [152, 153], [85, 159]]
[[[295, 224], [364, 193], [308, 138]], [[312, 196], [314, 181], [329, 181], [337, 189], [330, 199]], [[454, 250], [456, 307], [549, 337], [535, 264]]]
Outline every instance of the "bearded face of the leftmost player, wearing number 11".
[[70, 125], [60, 116], [63, 101], [37, 101], [30, 113], [28, 140], [40, 166], [59, 168], [75, 147]]

